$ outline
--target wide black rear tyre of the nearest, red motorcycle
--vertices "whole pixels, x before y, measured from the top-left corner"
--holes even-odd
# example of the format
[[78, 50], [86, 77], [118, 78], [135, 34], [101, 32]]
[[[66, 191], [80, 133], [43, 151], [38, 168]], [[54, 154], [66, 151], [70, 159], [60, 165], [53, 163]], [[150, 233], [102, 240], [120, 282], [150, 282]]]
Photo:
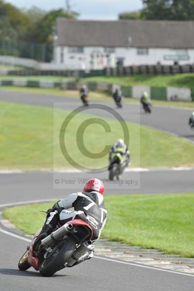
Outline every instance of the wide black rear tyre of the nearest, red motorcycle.
[[68, 238], [65, 242], [61, 242], [51, 256], [44, 259], [39, 272], [44, 277], [51, 277], [57, 271], [65, 268], [64, 264], [68, 262], [75, 250], [75, 241], [73, 238]]

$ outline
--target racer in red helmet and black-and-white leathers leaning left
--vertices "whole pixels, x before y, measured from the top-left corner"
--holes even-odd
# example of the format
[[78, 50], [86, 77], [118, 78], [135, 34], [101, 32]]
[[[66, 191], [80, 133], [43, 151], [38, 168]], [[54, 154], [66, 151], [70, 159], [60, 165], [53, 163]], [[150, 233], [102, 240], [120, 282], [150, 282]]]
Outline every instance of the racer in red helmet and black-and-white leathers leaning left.
[[[55, 230], [58, 222], [67, 223], [73, 219], [82, 219], [93, 229], [92, 244], [73, 266], [86, 259], [91, 259], [95, 242], [100, 238], [101, 231], [106, 223], [107, 211], [103, 193], [103, 182], [99, 179], [90, 179], [86, 182], [83, 192], [70, 194], [66, 199], [56, 202], [52, 209], [47, 210], [46, 222], [34, 243], [34, 255], [37, 256], [38, 254], [41, 240]], [[72, 207], [74, 207], [74, 211], [67, 210]]]

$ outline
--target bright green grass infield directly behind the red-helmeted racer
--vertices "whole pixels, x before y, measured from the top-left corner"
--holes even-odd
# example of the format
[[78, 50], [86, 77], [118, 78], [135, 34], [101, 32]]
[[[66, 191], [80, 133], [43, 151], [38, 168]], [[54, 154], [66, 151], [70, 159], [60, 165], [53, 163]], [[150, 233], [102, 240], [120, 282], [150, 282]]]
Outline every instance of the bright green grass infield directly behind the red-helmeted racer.
[[[194, 193], [105, 196], [108, 219], [102, 238], [194, 257]], [[44, 223], [53, 203], [14, 207], [3, 216], [27, 234]]]

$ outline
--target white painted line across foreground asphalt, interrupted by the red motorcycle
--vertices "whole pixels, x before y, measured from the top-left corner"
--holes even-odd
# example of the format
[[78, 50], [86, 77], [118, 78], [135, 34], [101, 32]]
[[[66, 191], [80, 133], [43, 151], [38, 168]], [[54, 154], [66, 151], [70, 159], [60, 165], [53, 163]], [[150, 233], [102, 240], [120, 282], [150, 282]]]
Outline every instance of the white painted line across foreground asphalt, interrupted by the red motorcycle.
[[[17, 234], [14, 234], [12, 232], [6, 231], [4, 229], [2, 229], [0, 227], [0, 232], [7, 234], [9, 236], [12, 236], [16, 239], [25, 241], [25, 242], [31, 242], [32, 240], [29, 240], [27, 238], [24, 238], [22, 236], [19, 236]], [[151, 270], [155, 270], [155, 271], [161, 271], [161, 272], [167, 272], [167, 273], [173, 273], [173, 274], [177, 274], [177, 275], [184, 275], [184, 276], [190, 276], [190, 277], [194, 277], [194, 275], [191, 274], [187, 274], [187, 273], [181, 273], [181, 272], [176, 272], [176, 271], [171, 271], [171, 270], [166, 270], [166, 269], [159, 269], [159, 268], [155, 268], [155, 267], [149, 267], [146, 265], [139, 265], [139, 264], [135, 264], [135, 263], [129, 263], [129, 262], [124, 262], [124, 261], [119, 261], [116, 259], [109, 259], [109, 258], [103, 258], [103, 257], [98, 257], [98, 256], [94, 256], [95, 259], [102, 259], [102, 260], [107, 260], [110, 262], [115, 262], [115, 263], [120, 263], [120, 264], [124, 264], [124, 265], [129, 265], [129, 266], [135, 266], [135, 267], [139, 267], [139, 268], [145, 268], [145, 269], [151, 269]]]

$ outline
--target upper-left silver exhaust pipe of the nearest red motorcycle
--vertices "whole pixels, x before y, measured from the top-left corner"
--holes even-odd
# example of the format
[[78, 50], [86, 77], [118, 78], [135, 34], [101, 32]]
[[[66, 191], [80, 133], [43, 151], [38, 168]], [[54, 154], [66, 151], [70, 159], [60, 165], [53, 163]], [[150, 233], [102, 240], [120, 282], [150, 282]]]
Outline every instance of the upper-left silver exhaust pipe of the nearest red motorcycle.
[[61, 237], [64, 237], [65, 234], [69, 233], [73, 228], [72, 224], [65, 224], [61, 226], [57, 230], [53, 231], [50, 235], [48, 235], [45, 239], [41, 241], [41, 245], [44, 247], [49, 246], [52, 242], [58, 241]]

